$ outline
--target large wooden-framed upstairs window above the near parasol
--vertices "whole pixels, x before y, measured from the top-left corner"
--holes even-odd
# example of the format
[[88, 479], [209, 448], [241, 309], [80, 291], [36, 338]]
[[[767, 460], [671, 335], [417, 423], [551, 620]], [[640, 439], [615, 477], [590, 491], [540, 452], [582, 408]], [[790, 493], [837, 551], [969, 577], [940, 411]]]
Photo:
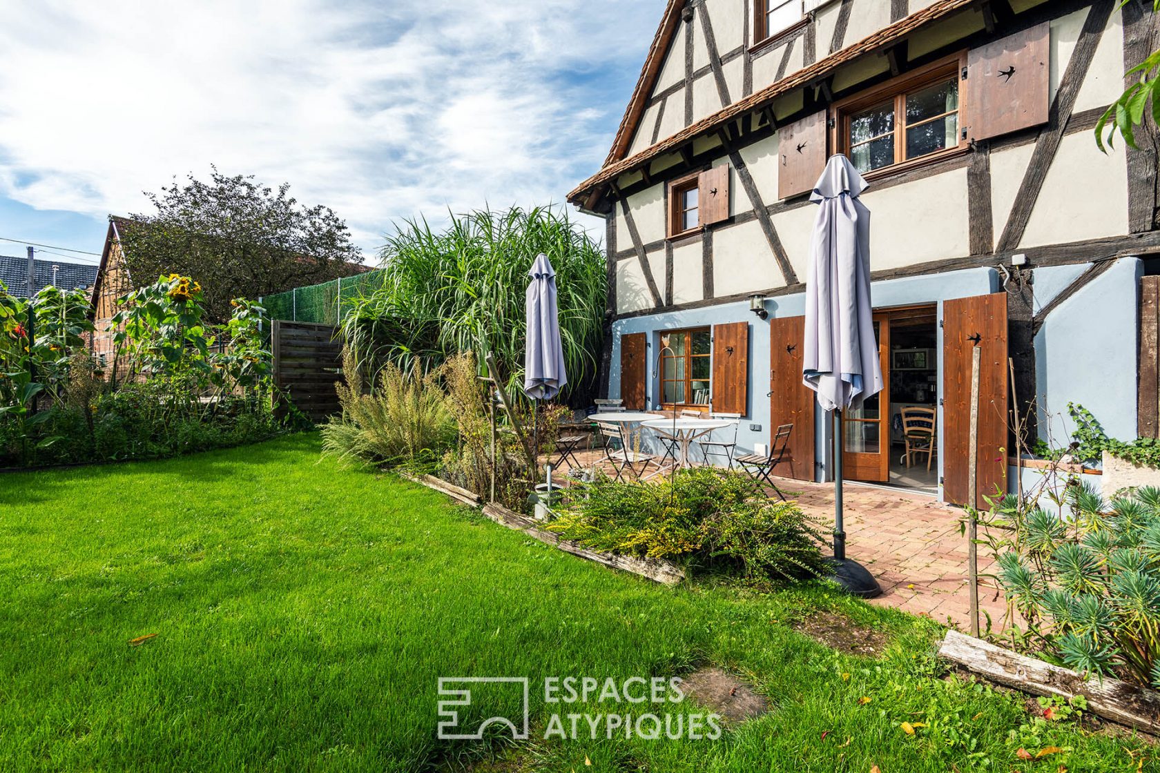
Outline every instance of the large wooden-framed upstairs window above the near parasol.
[[871, 176], [965, 151], [965, 67], [964, 51], [835, 103], [833, 147]]

